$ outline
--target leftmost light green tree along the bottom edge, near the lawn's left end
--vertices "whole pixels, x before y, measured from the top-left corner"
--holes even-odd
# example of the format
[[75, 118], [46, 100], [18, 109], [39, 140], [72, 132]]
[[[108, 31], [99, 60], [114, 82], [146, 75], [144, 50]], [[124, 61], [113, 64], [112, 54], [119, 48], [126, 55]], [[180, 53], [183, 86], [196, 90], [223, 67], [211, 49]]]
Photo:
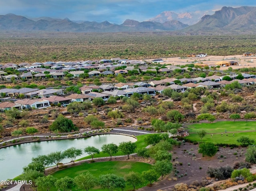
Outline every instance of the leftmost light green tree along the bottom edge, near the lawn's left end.
[[52, 175], [42, 176], [38, 177], [36, 179], [36, 186], [38, 187], [37, 190], [39, 191], [49, 191], [51, 187], [54, 186], [54, 183], [57, 181], [57, 179]]

